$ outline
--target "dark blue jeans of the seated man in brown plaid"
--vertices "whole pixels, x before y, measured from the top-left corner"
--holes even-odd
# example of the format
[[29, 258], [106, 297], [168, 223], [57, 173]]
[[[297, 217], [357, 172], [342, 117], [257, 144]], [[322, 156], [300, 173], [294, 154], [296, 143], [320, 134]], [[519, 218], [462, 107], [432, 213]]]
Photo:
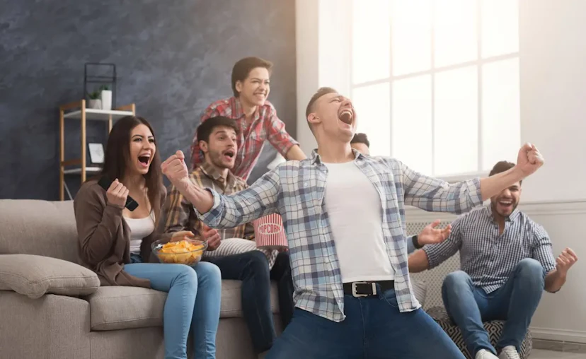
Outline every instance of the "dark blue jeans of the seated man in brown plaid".
[[242, 311], [256, 353], [272, 347], [277, 338], [270, 309], [270, 281], [277, 281], [280, 317], [285, 328], [293, 316], [293, 280], [289, 254], [280, 253], [269, 271], [268, 260], [260, 251], [219, 258], [206, 258], [222, 271], [222, 279], [242, 281]]

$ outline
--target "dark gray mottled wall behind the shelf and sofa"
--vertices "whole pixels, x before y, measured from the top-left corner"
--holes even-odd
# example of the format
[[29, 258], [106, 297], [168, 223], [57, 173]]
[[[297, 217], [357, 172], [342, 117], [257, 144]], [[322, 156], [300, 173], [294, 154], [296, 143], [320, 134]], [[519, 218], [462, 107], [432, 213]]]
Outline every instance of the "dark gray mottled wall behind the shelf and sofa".
[[[1, 7], [0, 198], [58, 198], [58, 106], [83, 97], [85, 62], [116, 64], [117, 105], [137, 104], [162, 158], [189, 153], [202, 111], [231, 95], [231, 66], [251, 55], [275, 63], [269, 100], [295, 134], [294, 0], [18, 0]], [[79, 156], [79, 122], [66, 124], [67, 159]], [[88, 125], [88, 141], [105, 141], [103, 123]], [[265, 146], [265, 163], [274, 155]], [[258, 167], [252, 179], [264, 172]], [[79, 187], [79, 176], [67, 182]]]

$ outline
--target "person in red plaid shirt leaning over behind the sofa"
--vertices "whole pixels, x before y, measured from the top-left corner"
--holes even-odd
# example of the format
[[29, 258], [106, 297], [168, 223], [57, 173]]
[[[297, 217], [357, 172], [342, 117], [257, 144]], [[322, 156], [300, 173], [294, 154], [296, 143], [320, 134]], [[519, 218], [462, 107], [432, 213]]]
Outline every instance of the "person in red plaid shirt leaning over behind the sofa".
[[[201, 122], [209, 117], [225, 116], [236, 120], [239, 135], [236, 138], [238, 153], [232, 172], [245, 181], [251, 175], [265, 140], [268, 140], [287, 160], [306, 158], [299, 143], [285, 131], [285, 124], [277, 117], [277, 110], [268, 102], [272, 64], [258, 57], [245, 57], [232, 69], [234, 96], [209, 105]], [[204, 162], [197, 133], [191, 146], [193, 168]]]

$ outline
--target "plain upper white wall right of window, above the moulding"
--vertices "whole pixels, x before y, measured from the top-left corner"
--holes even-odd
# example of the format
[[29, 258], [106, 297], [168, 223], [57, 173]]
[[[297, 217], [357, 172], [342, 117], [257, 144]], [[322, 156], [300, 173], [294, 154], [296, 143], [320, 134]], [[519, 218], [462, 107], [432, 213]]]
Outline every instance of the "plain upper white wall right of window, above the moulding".
[[519, 14], [521, 136], [546, 158], [524, 200], [586, 199], [586, 1], [522, 0]]

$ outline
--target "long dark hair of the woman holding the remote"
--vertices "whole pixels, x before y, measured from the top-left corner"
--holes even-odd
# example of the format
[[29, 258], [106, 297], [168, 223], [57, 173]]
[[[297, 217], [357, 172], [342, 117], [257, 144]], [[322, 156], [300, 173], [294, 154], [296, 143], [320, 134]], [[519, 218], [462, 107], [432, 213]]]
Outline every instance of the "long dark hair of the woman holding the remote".
[[[110, 131], [108, 144], [105, 148], [104, 166], [102, 175], [108, 176], [110, 180], [118, 179], [122, 181], [128, 170], [130, 163], [130, 134], [132, 129], [139, 124], [149, 127], [154, 137], [156, 146], [156, 136], [151, 124], [146, 119], [138, 116], [125, 116], [119, 119]], [[155, 228], [159, 223], [161, 215], [161, 196], [163, 195], [163, 175], [161, 174], [161, 157], [159, 148], [156, 148], [149, 172], [144, 175], [146, 179], [146, 190], [149, 196], [151, 208], [155, 216]]]

